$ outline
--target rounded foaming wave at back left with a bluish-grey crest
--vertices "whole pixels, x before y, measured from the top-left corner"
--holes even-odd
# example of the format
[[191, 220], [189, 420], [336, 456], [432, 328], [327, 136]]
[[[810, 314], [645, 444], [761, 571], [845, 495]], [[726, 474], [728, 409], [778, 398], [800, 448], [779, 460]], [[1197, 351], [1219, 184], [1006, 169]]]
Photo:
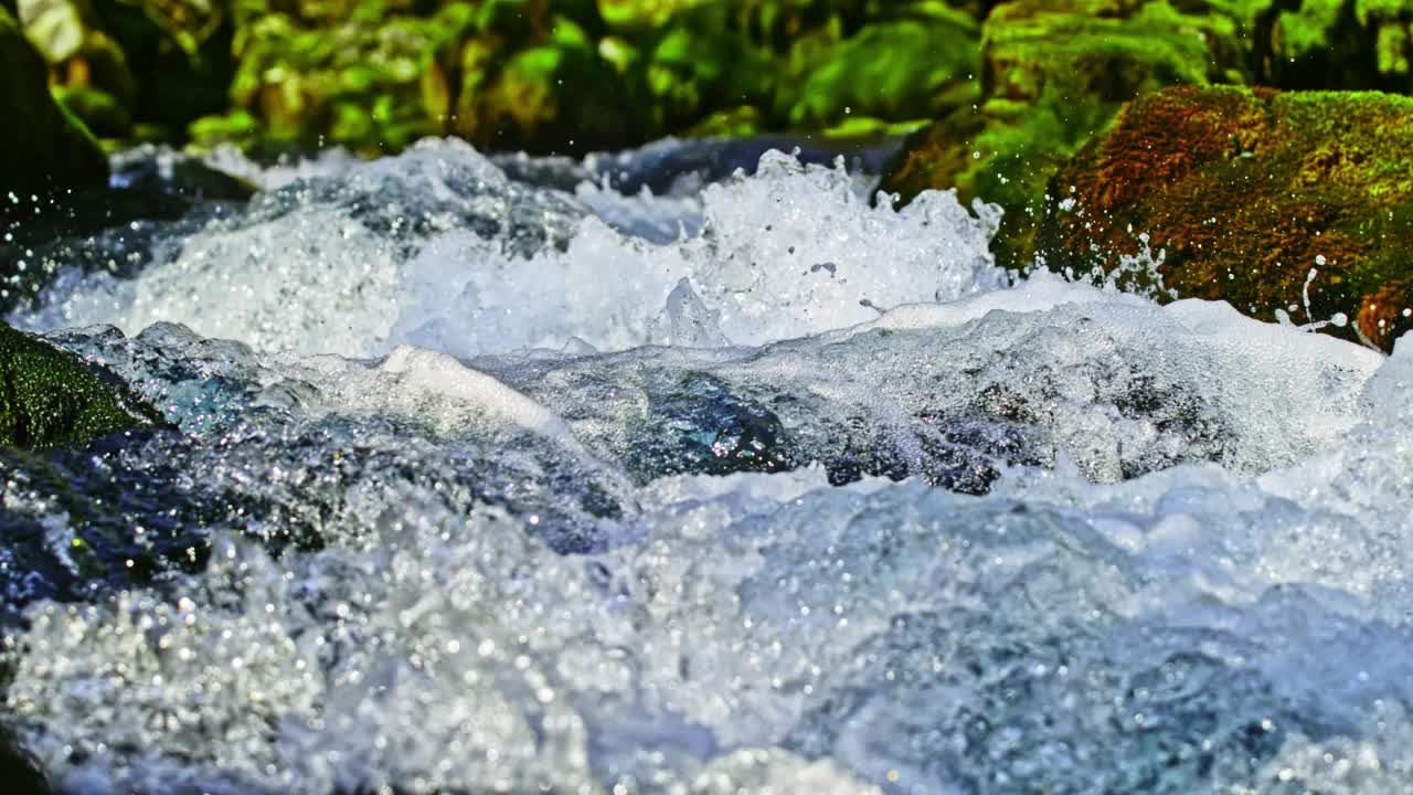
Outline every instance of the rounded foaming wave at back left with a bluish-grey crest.
[[463, 231], [523, 256], [561, 243], [585, 212], [564, 194], [512, 182], [451, 140], [372, 163], [331, 158], [276, 184], [244, 212], [162, 240], [164, 256], [136, 277], [71, 269], [41, 308], [13, 320], [129, 334], [168, 321], [266, 352], [383, 355], [407, 262], [430, 240]]

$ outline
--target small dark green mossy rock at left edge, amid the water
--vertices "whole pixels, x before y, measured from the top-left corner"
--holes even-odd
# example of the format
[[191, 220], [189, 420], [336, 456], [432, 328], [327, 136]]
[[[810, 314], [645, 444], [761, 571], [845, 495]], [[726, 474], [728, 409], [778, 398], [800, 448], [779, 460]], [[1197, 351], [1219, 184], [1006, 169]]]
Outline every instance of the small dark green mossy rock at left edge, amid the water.
[[0, 323], [0, 444], [82, 444], [161, 423], [117, 376]]

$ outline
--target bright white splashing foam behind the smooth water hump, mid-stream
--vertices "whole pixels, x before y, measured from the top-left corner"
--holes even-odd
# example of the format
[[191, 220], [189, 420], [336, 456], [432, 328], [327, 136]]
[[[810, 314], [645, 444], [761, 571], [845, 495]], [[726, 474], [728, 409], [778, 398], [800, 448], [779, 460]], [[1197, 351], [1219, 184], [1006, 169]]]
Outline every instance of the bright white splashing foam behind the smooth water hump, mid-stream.
[[463, 356], [571, 338], [601, 351], [759, 345], [1002, 283], [986, 252], [993, 219], [950, 192], [870, 208], [842, 167], [767, 153], [755, 177], [709, 185], [701, 201], [701, 233], [667, 245], [596, 218], [568, 252], [530, 262], [471, 235], [444, 239], [411, 267], [394, 340]]

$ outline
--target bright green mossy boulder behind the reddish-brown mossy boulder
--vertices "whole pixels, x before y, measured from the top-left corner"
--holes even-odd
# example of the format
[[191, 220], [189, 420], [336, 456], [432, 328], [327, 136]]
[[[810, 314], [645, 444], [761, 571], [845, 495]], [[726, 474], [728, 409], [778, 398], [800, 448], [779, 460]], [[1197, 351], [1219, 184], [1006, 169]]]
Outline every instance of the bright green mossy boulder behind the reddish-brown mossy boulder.
[[955, 187], [1000, 204], [998, 259], [1020, 265], [1054, 170], [1135, 96], [1243, 81], [1241, 33], [1228, 16], [1167, 0], [996, 6], [982, 30], [981, 102], [911, 136], [879, 188], [906, 202]]

